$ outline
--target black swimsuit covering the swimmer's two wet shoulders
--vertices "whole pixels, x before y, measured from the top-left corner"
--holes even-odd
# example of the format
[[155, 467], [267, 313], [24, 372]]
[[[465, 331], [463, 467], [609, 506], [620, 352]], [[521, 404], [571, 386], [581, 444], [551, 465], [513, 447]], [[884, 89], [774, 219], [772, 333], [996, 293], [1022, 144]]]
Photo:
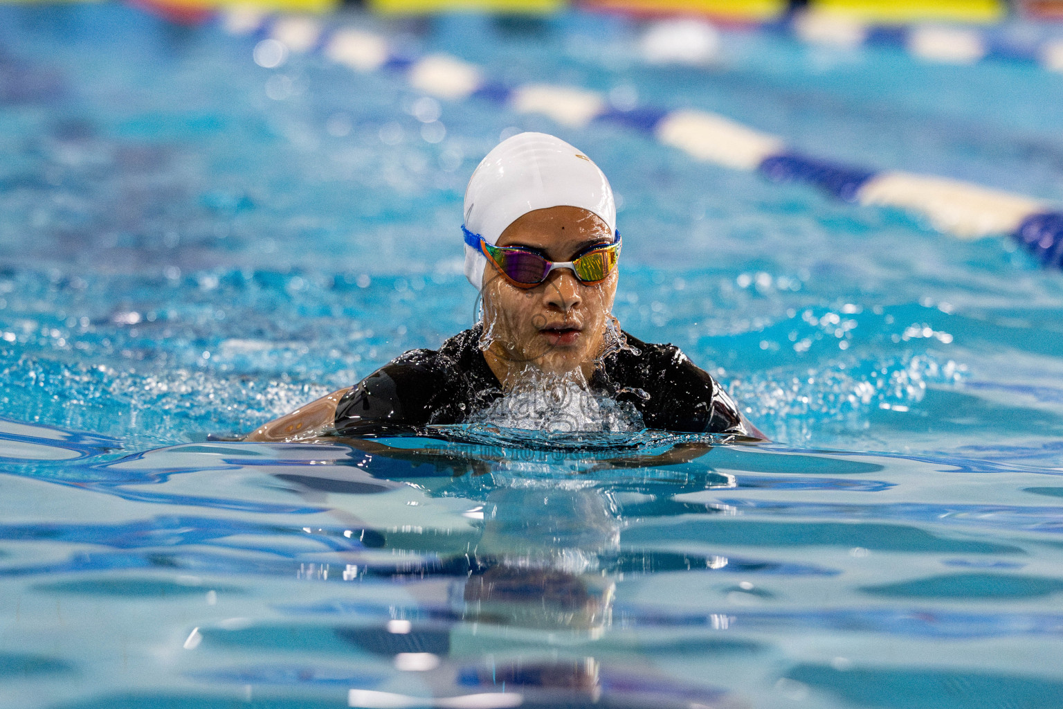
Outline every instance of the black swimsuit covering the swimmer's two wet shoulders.
[[[336, 405], [336, 433], [377, 434], [463, 423], [504, 395], [478, 347], [482, 328], [458, 333], [439, 350], [411, 350], [352, 387]], [[635, 350], [609, 355], [590, 385], [630, 402], [649, 428], [750, 434], [735, 401], [673, 344], [627, 335]]]

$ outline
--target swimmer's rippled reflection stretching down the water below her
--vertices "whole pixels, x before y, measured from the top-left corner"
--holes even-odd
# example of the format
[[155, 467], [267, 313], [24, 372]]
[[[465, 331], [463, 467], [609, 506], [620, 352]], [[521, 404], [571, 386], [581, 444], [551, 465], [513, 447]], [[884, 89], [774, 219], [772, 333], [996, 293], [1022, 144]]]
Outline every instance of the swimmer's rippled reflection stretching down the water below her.
[[[362, 470], [395, 480], [401, 469], [391, 463], [409, 463], [404, 468], [412, 471], [409, 477], [419, 487], [437, 486], [432, 492], [440, 496], [455, 491], [448, 487], [455, 480], [477, 479], [483, 523], [467, 552], [440, 560], [449, 583], [408, 591], [425, 607], [449, 608], [444, 617], [342, 628], [337, 632], [344, 641], [391, 659], [399, 670], [419, 671], [423, 686], [448, 702], [517, 693], [523, 707], [601, 706], [600, 699], [610, 695], [614, 702], [606, 700], [609, 706], [689, 707], [691, 697], [705, 707], [720, 706], [713, 693], [718, 690], [686, 688], [679, 700], [661, 694], [662, 687], [676, 691], [672, 678], [646, 668], [607, 671], [589, 656], [586, 642], [609, 631], [619, 580], [610, 560], [620, 553], [622, 517], [610, 487], [589, 475], [559, 477], [556, 468], [537, 478], [537, 472], [551, 471], [551, 463], [512, 460], [499, 449], [489, 455], [455, 446], [411, 450], [375, 440], [349, 443], [359, 452], [356, 456], [367, 456], [359, 461]], [[585, 470], [667, 466], [708, 450], [706, 443], [685, 442], [661, 455], [588, 459]], [[435, 477], [424, 477], [425, 463]], [[319, 489], [333, 489], [330, 486]], [[404, 578], [410, 575], [418, 574]], [[540, 632], [555, 640], [544, 644]], [[558, 644], [558, 637], [568, 640]], [[638, 700], [632, 693], [639, 694]], [[412, 700], [374, 692], [356, 698], [357, 706], [381, 707]]]

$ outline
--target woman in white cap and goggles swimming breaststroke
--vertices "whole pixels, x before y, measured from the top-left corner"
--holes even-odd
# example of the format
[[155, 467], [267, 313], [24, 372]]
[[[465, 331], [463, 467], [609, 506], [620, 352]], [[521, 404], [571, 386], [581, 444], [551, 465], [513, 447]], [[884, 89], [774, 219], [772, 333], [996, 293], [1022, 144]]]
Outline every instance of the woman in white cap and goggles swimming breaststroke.
[[355, 386], [271, 421], [250, 441], [462, 423], [519, 389], [569, 385], [638, 411], [651, 428], [763, 437], [671, 344], [611, 315], [621, 250], [609, 182], [569, 144], [522, 133], [494, 148], [465, 197], [465, 272], [483, 320]]

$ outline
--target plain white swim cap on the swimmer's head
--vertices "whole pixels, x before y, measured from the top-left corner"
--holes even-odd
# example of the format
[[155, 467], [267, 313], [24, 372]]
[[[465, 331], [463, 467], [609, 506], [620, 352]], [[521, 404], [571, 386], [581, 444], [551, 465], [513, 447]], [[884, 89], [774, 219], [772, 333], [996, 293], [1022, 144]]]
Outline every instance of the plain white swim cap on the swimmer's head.
[[[617, 205], [609, 181], [591, 158], [545, 133], [520, 133], [487, 154], [466, 189], [465, 229], [494, 243], [528, 212], [581, 207], [617, 231]], [[473, 243], [477, 246], [473, 246]], [[478, 239], [466, 235], [466, 277], [479, 290], [487, 259]]]

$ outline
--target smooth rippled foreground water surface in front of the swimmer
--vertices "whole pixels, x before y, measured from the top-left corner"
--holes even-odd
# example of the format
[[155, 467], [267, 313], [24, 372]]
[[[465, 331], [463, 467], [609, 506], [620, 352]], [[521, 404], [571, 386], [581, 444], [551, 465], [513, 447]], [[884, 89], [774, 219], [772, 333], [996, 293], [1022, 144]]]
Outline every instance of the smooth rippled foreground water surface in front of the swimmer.
[[[1001, 487], [975, 461], [655, 432], [131, 452], [0, 427], [0, 682], [26, 706], [900, 707], [914, 682], [960, 687], [926, 705], [959, 709], [993, 706], [966, 687], [1030, 707], [1059, 689], [985, 655], [1058, 652], [1063, 545], [1027, 491], [1053, 471]], [[905, 502], [926, 487], [962, 494]]]

